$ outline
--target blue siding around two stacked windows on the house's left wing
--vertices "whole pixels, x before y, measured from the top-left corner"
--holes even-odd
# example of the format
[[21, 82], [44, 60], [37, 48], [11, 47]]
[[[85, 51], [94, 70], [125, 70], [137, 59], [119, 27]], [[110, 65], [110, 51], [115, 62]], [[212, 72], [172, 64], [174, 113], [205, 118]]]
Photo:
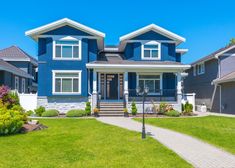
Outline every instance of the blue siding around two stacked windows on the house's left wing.
[[[88, 47], [88, 44], [91, 47]], [[52, 39], [39, 39], [39, 70], [38, 70], [38, 95], [53, 96], [52, 94], [52, 70], [81, 70], [82, 86], [81, 95], [88, 96], [88, 72], [86, 63], [96, 60], [97, 42], [95, 40], [82, 39], [82, 60], [53, 60]]]

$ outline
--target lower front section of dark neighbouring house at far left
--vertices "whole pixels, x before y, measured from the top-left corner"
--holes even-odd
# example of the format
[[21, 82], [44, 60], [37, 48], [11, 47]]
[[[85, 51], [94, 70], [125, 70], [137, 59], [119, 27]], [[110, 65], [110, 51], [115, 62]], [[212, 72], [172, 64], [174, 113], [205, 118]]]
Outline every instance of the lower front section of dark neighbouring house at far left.
[[0, 59], [0, 86], [6, 85], [19, 93], [27, 93], [28, 81], [32, 76]]

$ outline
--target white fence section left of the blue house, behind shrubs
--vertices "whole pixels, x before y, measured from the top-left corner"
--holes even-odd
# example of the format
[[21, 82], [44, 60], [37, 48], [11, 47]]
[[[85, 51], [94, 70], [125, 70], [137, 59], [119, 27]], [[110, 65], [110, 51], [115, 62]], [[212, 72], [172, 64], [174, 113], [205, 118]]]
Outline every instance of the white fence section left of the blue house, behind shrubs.
[[20, 105], [25, 110], [34, 110], [37, 108], [37, 94], [19, 94]]

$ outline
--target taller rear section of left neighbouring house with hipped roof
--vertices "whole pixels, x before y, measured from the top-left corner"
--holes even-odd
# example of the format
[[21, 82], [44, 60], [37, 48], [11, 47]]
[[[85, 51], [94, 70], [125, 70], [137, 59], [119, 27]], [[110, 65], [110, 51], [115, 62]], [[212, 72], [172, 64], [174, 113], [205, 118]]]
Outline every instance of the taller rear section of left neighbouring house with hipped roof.
[[22, 49], [20, 49], [17, 46], [11, 46], [0, 50], [0, 59], [15, 66], [16, 68], [21, 69], [30, 76], [30, 78], [28, 78], [26, 81], [24, 81], [24, 79], [19, 79], [20, 85], [22, 85], [22, 83], [24, 82], [26, 83], [25, 84], [26, 88], [24, 89], [24, 91], [20, 89], [19, 92], [25, 92], [25, 93], [37, 92], [36, 71], [38, 63], [36, 59], [28, 55], [26, 52], [24, 52]]

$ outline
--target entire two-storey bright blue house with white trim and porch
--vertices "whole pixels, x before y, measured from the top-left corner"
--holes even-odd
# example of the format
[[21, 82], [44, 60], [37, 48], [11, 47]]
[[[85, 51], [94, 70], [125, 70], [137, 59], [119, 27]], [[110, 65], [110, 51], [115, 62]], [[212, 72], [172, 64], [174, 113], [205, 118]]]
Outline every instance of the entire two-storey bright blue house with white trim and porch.
[[90, 97], [93, 108], [133, 100], [140, 108], [136, 88], [148, 87], [147, 106], [164, 101], [181, 111], [181, 73], [190, 67], [181, 63], [187, 50], [176, 48], [183, 37], [151, 24], [105, 47], [104, 33], [67, 18], [26, 35], [38, 43], [38, 105], [65, 112]]

